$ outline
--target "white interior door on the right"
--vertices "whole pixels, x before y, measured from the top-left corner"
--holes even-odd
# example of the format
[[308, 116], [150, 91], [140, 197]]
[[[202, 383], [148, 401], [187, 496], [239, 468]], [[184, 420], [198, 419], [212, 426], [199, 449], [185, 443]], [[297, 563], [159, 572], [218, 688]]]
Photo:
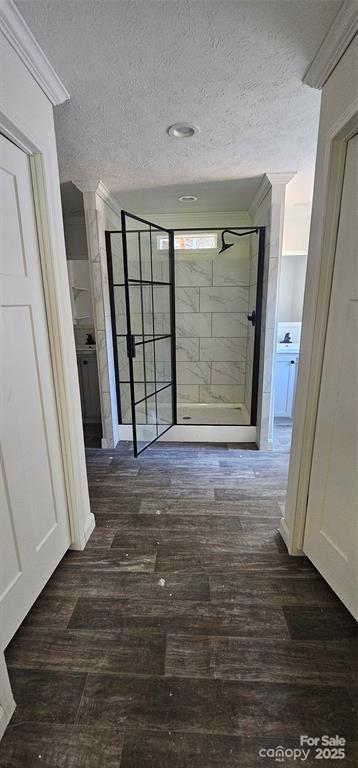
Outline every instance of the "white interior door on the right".
[[358, 135], [347, 146], [304, 551], [358, 618]]

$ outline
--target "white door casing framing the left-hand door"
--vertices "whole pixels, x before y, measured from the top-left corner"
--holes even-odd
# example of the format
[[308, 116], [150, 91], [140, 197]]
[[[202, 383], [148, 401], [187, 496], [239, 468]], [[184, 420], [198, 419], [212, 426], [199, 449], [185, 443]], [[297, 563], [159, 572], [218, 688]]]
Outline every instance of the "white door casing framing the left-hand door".
[[[63, 229], [58, 229], [56, 221], [57, 200], [52, 199], [50, 193], [51, 186], [56, 183], [57, 168], [51, 167], [49, 147], [42, 146], [41, 140], [33, 136], [27, 126], [25, 129], [23, 125], [20, 127], [20, 121], [15, 123], [4, 112], [0, 112], [0, 133], [29, 157], [70, 524], [70, 549], [82, 550], [95, 527], [95, 518], [89, 503], [75, 343], [73, 333], [69, 333], [72, 315], [67, 269], [66, 272], [61, 270], [53, 246], [53, 240], [58, 236], [64, 248]], [[62, 267], [66, 268], [66, 264]]]

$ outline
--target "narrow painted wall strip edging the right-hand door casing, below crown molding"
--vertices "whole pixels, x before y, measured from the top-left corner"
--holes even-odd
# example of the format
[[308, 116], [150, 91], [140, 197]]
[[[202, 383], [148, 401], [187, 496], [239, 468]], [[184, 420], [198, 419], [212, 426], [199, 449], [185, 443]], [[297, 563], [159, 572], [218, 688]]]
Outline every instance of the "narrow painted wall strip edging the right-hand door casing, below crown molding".
[[[281, 533], [289, 552], [302, 554], [306, 518], [308, 483], [324, 348], [324, 309], [318, 297], [329, 279], [335, 232], [331, 232], [331, 217], [326, 220], [334, 201], [328, 198], [330, 157], [333, 137], [358, 110], [357, 102], [358, 39], [355, 37], [340, 58], [322, 90], [321, 115], [317, 148], [316, 175], [312, 206], [307, 281], [304, 299], [300, 367], [298, 373], [293, 438], [289, 467], [287, 499]], [[338, 191], [334, 190], [339, 200]], [[330, 245], [330, 249], [327, 247]], [[329, 293], [329, 292], [328, 292]], [[322, 300], [321, 300], [322, 301]], [[320, 335], [323, 328], [323, 337]], [[315, 341], [319, 341], [316, 344]]]

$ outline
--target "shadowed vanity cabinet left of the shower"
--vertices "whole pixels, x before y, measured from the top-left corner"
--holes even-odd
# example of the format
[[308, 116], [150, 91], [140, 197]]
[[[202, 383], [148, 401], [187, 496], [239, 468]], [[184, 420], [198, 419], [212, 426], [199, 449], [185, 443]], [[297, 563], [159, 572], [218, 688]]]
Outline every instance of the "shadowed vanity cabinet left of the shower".
[[95, 349], [77, 350], [78, 378], [82, 406], [82, 420], [85, 424], [101, 421], [99, 399], [97, 355]]

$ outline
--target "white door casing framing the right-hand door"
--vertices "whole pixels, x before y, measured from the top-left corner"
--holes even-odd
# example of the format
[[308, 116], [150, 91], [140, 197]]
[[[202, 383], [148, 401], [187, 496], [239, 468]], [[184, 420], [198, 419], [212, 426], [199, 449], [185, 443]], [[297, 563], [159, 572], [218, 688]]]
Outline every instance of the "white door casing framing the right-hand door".
[[[306, 526], [308, 494], [316, 432], [316, 421], [321, 389], [321, 375], [325, 350], [331, 287], [333, 281], [339, 215], [348, 141], [358, 130], [358, 99], [354, 99], [326, 134], [324, 146], [324, 173], [321, 217], [318, 243], [310, 235], [310, 253], [319, 251], [316, 284], [306, 282], [301, 359], [298, 369], [296, 402], [293, 420], [287, 501], [280, 533], [289, 554], [304, 555], [303, 539]], [[315, 181], [316, 185], [317, 181]], [[315, 187], [316, 188], [316, 187]], [[315, 195], [315, 193], [314, 193]], [[313, 282], [313, 281], [312, 281]], [[310, 315], [313, 314], [311, 330]], [[300, 425], [303, 425], [300, 430]], [[299, 434], [301, 431], [301, 434]], [[287, 519], [291, 517], [292, 525]]]

